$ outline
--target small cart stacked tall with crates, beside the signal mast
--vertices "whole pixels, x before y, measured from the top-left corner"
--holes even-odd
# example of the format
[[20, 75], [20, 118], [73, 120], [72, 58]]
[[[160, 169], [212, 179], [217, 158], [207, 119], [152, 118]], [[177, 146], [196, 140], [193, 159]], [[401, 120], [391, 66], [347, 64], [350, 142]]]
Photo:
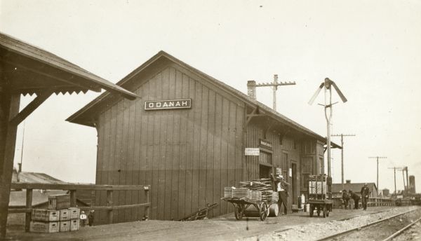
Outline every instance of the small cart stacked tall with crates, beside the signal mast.
[[328, 189], [326, 186], [326, 175], [310, 175], [309, 176], [309, 200], [310, 205], [309, 214], [314, 215], [316, 211], [317, 216], [323, 213], [323, 218], [329, 216], [332, 212], [333, 200], [328, 199]]

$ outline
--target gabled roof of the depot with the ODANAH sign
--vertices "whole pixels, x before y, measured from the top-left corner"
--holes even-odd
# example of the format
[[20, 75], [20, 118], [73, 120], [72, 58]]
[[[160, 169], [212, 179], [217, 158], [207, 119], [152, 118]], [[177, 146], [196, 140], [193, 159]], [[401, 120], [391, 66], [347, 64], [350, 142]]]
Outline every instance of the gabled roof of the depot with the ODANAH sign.
[[[143, 71], [147, 71], [147, 69], [149, 68], [154, 69], [154, 64], [156, 64], [157, 62], [166, 62], [166, 63], [172, 62], [172, 63], [178, 64], [180, 67], [184, 67], [185, 69], [192, 71], [194, 74], [201, 76], [203, 79], [206, 79], [210, 81], [211, 83], [217, 85], [219, 88], [222, 88], [222, 90], [229, 92], [234, 97], [241, 99], [241, 101], [245, 102], [248, 106], [252, 106], [253, 108], [258, 107], [260, 113], [265, 113], [267, 116], [272, 117], [276, 121], [279, 121], [285, 125], [288, 125], [290, 128], [293, 128], [299, 132], [303, 132], [306, 135], [309, 135], [311, 137], [314, 137], [315, 139], [319, 139], [323, 143], [326, 143], [326, 137], [322, 137], [316, 132], [313, 132], [312, 130], [305, 128], [304, 126], [300, 125], [299, 123], [296, 123], [290, 118], [287, 118], [286, 116], [283, 116], [281, 113], [278, 113], [274, 111], [273, 109], [269, 108], [269, 106], [266, 106], [265, 104], [262, 104], [255, 99], [251, 99], [250, 97], [248, 97], [248, 95], [244, 94], [243, 92], [236, 90], [235, 88], [232, 88], [231, 86], [223, 83], [222, 81], [218, 81], [212, 76], [208, 76], [207, 74], [204, 74], [202, 71], [195, 69], [189, 64], [186, 64], [185, 62], [178, 60], [176, 57], [173, 57], [172, 55], [169, 55], [168, 53], [162, 50], [159, 51], [159, 53], [157, 53], [153, 57], [151, 57], [149, 60], [147, 60], [147, 62], [142, 64], [140, 67], [133, 70], [130, 74], [128, 74], [126, 77], [121, 79], [121, 81], [119, 81], [116, 84], [123, 87], [129, 86], [131, 84], [133, 76], [136, 76], [137, 74], [140, 74]], [[107, 102], [109, 101], [109, 99], [110, 97], [109, 97], [108, 92], [102, 93], [102, 95], [100, 95], [99, 97], [94, 99], [92, 102], [84, 106], [82, 109], [74, 113], [72, 116], [67, 118], [66, 121], [69, 121], [72, 123], [78, 123], [81, 125], [94, 126], [94, 123], [92, 121], [93, 121], [93, 116], [95, 116], [95, 109], [102, 108], [102, 106], [106, 106], [106, 104], [103, 104], [103, 102]], [[332, 142], [332, 146], [336, 148], [340, 148], [338, 144], [335, 144], [333, 142]]]

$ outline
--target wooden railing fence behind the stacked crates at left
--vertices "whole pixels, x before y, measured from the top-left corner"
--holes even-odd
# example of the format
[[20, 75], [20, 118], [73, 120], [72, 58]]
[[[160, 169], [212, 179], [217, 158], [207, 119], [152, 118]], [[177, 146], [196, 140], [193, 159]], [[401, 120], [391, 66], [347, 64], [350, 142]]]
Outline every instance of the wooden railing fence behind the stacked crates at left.
[[[149, 209], [151, 202], [149, 200], [150, 185], [93, 185], [93, 184], [36, 184], [36, 183], [22, 183], [13, 182], [12, 189], [26, 189], [26, 205], [25, 208], [8, 209], [8, 213], [25, 213], [25, 231], [29, 231], [29, 225], [32, 217], [32, 191], [34, 189], [43, 190], [65, 190], [70, 193], [70, 207], [76, 207], [76, 193], [77, 191], [107, 191], [107, 205], [98, 207], [79, 207], [81, 210], [108, 210], [108, 223], [112, 223], [114, 209], [125, 209], [133, 207], [145, 207], [145, 214], [143, 219], [149, 218]], [[145, 202], [134, 205], [116, 205], [112, 203], [113, 191], [145, 191]]]

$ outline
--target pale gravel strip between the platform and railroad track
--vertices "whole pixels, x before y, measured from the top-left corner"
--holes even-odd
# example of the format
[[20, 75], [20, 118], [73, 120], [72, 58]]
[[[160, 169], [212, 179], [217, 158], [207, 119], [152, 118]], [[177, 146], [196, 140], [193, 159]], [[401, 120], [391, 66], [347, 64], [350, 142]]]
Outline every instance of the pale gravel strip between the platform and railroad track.
[[[350, 228], [357, 228], [363, 224], [371, 223], [379, 219], [385, 219], [409, 210], [420, 209], [420, 207], [391, 208], [385, 212], [376, 214], [356, 216], [343, 221], [329, 221], [327, 223], [308, 223], [302, 226], [293, 226], [282, 232], [272, 232], [256, 237], [248, 237], [246, 241], [266, 241], [266, 240], [317, 240], [327, 235], [333, 235]], [[421, 209], [420, 209], [421, 210]], [[414, 219], [415, 220], [415, 219]], [[352, 239], [351, 239], [352, 240]]]

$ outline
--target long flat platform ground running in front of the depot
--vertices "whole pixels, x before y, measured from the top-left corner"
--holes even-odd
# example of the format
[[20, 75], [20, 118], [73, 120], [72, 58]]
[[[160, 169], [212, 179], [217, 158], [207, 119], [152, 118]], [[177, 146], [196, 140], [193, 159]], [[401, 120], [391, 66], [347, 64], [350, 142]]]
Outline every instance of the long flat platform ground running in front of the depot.
[[355, 216], [382, 212], [391, 208], [369, 207], [363, 209], [333, 209], [331, 215], [309, 217], [308, 212], [269, 217], [266, 221], [250, 218], [236, 221], [234, 214], [217, 219], [199, 221], [137, 221], [102, 226], [84, 227], [72, 233], [25, 233], [22, 227], [9, 227], [9, 240], [236, 240], [256, 235], [286, 230], [305, 223], [324, 223], [332, 220], [351, 219]]

